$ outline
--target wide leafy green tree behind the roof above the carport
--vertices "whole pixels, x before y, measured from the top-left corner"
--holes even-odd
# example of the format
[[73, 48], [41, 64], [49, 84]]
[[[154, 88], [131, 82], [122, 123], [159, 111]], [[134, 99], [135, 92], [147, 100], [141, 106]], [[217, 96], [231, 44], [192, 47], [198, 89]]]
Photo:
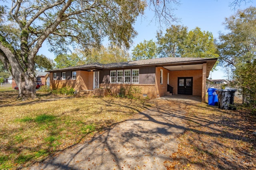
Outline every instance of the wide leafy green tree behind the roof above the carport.
[[158, 32], [157, 39], [160, 57], [218, 57], [212, 33], [199, 27], [188, 31], [187, 27], [171, 25], [164, 35]]

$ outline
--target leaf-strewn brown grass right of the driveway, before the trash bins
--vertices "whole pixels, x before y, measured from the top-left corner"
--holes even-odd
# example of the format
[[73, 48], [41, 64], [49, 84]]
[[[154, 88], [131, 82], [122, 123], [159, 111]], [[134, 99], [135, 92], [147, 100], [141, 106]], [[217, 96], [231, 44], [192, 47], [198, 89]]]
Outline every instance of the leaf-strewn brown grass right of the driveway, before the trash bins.
[[172, 106], [186, 110], [186, 130], [178, 139], [178, 152], [170, 156], [173, 161], [167, 169], [256, 169], [254, 113], [239, 105], [236, 111], [206, 103]]

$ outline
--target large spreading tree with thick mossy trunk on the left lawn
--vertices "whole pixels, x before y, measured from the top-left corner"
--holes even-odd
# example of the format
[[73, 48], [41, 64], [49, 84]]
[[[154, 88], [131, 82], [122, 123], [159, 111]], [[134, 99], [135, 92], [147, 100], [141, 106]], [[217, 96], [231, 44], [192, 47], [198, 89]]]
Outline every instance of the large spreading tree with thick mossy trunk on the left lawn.
[[36, 97], [34, 66], [44, 41], [55, 53], [67, 51], [69, 45], [99, 46], [106, 36], [129, 47], [136, 35], [132, 24], [146, 7], [141, 0], [3, 2], [7, 6], [0, 6], [0, 60], [20, 89], [18, 98]]

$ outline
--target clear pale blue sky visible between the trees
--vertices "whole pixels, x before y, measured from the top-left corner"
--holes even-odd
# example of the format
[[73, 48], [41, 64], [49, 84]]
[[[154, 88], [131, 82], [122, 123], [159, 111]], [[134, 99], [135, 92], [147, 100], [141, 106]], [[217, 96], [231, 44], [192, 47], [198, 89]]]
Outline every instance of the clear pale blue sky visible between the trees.
[[[200, 27], [201, 31], [212, 32], [214, 38], [218, 38], [219, 32], [224, 32], [224, 25], [222, 24], [225, 18], [228, 18], [236, 13], [237, 9], [243, 10], [249, 6], [256, 6], [256, 1], [247, 4], [241, 4], [234, 10], [230, 7], [232, 0], [180, 0], [180, 5], [175, 6], [174, 14], [177, 18], [180, 18], [179, 22], [173, 24], [183, 25], [188, 27], [188, 30]], [[145, 40], [153, 39], [156, 41], [156, 32], [160, 30], [159, 24], [154, 20], [154, 13], [150, 10], [146, 10], [144, 16], [138, 17], [134, 25], [134, 28], [138, 32], [138, 35], [133, 40], [131, 49], [138, 43]], [[162, 25], [162, 30], [165, 32], [168, 25]], [[107, 45], [108, 42], [104, 41], [103, 45]], [[43, 44], [39, 50], [39, 54], [44, 54], [50, 59], [54, 59], [54, 54], [48, 51], [46, 43]], [[226, 79], [223, 68], [217, 67], [218, 71], [214, 71], [209, 77], [212, 79]]]

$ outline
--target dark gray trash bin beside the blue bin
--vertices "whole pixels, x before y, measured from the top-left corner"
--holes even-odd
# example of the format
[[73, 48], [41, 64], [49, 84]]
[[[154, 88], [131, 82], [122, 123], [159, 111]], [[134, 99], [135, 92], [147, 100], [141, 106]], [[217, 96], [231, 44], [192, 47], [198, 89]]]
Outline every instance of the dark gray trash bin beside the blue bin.
[[218, 105], [220, 109], [236, 110], [236, 107], [234, 106], [236, 89], [218, 89], [215, 91], [218, 94]]

